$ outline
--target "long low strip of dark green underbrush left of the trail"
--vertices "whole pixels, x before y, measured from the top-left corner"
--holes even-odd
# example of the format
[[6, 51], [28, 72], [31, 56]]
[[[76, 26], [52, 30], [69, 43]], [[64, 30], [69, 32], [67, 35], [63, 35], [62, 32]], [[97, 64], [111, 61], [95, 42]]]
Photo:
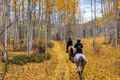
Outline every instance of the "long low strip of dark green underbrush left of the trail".
[[49, 53], [41, 53], [41, 54], [32, 54], [30, 56], [27, 55], [18, 55], [14, 56], [12, 59], [13, 64], [24, 65], [30, 62], [41, 63], [44, 60], [49, 60], [51, 55]]

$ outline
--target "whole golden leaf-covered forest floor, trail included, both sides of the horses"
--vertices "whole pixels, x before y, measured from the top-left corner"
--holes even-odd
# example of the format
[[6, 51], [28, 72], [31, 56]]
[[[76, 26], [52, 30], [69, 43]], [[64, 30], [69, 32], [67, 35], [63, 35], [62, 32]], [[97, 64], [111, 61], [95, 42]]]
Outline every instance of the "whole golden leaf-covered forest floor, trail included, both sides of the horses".
[[[92, 50], [92, 39], [83, 40], [88, 59], [85, 80], [120, 80], [120, 48], [113, 48], [97, 39], [97, 52]], [[5, 80], [79, 80], [76, 66], [68, 59], [63, 42], [54, 41], [50, 49], [51, 59], [42, 63], [23, 66], [9, 64]]]

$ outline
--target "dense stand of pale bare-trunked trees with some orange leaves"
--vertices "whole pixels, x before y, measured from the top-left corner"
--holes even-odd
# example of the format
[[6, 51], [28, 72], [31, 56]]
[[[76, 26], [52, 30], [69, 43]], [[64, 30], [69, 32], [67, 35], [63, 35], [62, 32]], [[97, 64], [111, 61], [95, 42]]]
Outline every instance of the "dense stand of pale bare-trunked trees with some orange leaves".
[[[66, 36], [95, 37], [103, 35], [112, 44], [119, 43], [119, 2], [117, 0], [91, 0], [91, 20], [85, 22], [80, 0], [1, 0], [1, 41], [5, 47], [13, 41], [14, 48], [26, 43], [32, 49], [34, 39], [52, 39], [60, 32]], [[97, 5], [101, 4], [101, 17]], [[47, 36], [47, 37], [46, 37]], [[18, 46], [19, 45], [19, 46]]]

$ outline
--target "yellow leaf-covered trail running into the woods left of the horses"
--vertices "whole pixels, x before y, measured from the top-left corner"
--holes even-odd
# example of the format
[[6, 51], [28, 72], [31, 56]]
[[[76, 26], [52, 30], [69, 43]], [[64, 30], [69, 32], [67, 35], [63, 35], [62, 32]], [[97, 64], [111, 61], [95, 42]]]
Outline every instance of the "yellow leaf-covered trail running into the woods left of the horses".
[[76, 67], [69, 61], [64, 45], [61, 42], [55, 42], [53, 51], [58, 63], [53, 72], [52, 80], [79, 80]]

